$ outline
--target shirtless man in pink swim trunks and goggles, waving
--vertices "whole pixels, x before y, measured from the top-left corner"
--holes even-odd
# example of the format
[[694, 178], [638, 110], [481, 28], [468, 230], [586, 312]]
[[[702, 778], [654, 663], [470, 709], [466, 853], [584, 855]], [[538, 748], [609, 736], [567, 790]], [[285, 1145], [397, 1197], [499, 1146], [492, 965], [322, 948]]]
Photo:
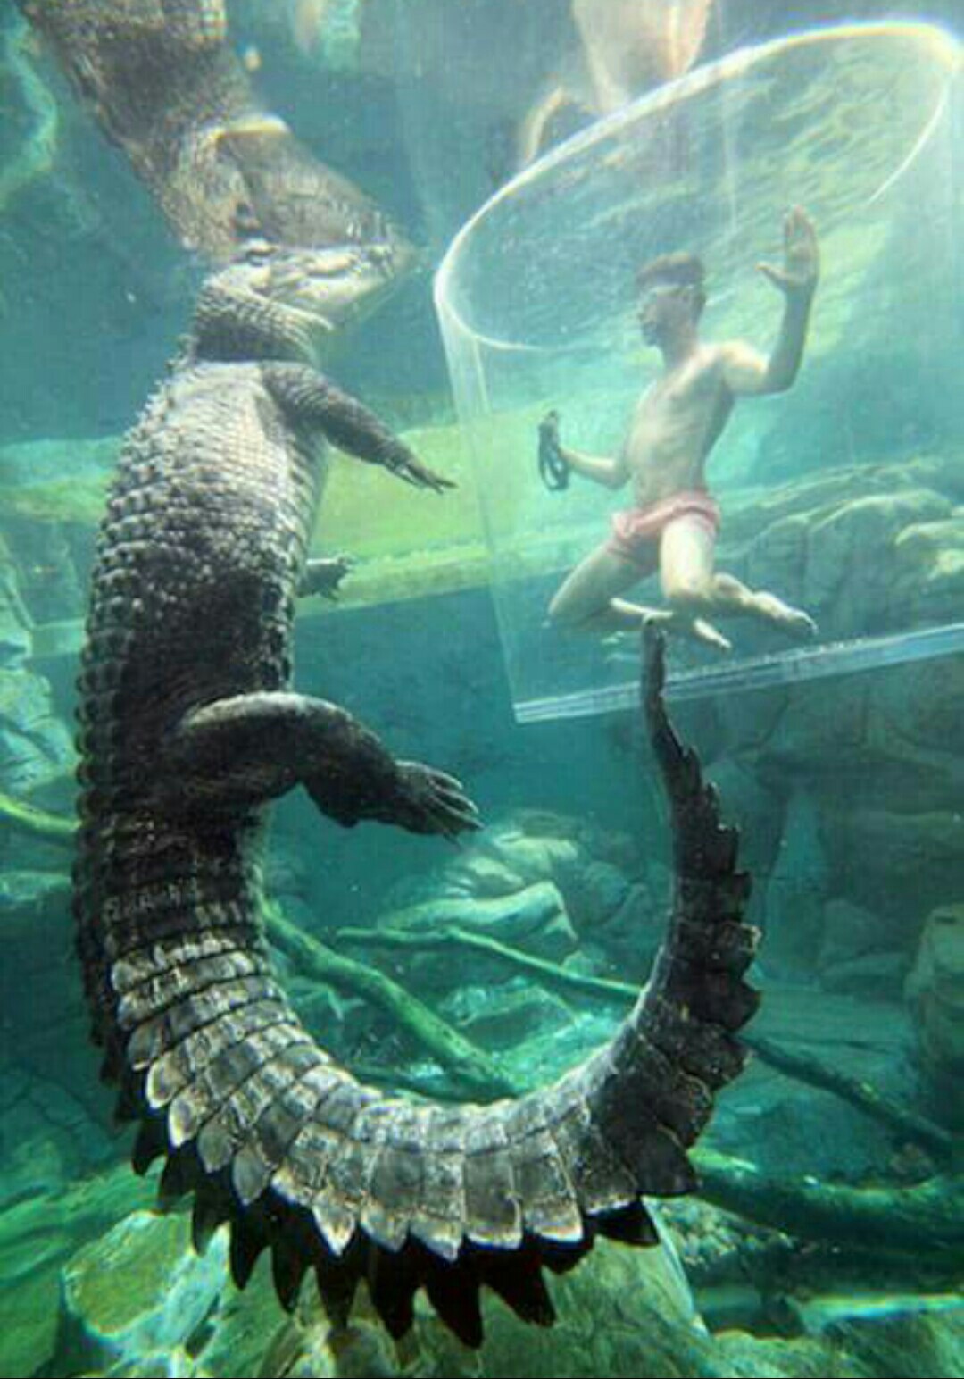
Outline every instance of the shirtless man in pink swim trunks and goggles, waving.
[[[786, 392], [800, 370], [819, 277], [816, 233], [800, 207], [786, 215], [783, 239], [783, 268], [760, 265], [786, 299], [770, 359], [741, 341], [701, 341], [703, 265], [692, 254], [663, 254], [637, 274], [643, 338], [662, 353], [663, 370], [636, 404], [621, 454], [601, 459], [568, 450], [559, 444], [553, 414], [543, 422], [559, 458], [576, 474], [607, 488], [632, 480], [636, 501], [614, 514], [610, 539], [565, 579], [549, 607], [553, 623], [618, 632], [661, 621], [725, 651], [730, 643], [706, 615], [759, 618], [797, 638], [815, 634], [801, 610], [714, 572], [720, 510], [705, 479], [736, 399]], [[618, 597], [656, 571], [669, 610]]]

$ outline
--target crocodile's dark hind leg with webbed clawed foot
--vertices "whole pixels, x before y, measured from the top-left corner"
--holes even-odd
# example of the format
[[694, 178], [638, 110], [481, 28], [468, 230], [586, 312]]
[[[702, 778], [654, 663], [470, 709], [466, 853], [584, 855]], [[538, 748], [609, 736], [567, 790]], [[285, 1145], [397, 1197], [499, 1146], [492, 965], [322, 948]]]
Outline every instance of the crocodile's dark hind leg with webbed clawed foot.
[[303, 785], [346, 827], [375, 819], [448, 837], [479, 827], [454, 776], [396, 760], [345, 709], [301, 694], [234, 695], [192, 710], [156, 774], [159, 803], [174, 812], [243, 809]]

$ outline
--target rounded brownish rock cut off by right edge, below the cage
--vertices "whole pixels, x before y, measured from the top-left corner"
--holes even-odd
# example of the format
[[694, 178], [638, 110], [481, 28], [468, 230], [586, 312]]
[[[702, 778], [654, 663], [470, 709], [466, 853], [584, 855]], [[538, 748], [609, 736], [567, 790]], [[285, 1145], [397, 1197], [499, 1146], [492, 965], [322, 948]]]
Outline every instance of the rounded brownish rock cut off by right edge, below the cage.
[[949, 1125], [964, 1131], [964, 905], [945, 905], [927, 917], [905, 994], [917, 1016], [935, 1105]]

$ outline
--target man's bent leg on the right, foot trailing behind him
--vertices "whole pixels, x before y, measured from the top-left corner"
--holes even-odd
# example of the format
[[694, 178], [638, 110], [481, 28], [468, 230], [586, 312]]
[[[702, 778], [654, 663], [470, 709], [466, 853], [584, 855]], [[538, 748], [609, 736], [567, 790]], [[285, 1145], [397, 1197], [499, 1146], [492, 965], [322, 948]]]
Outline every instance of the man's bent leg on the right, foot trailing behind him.
[[716, 532], [702, 517], [677, 517], [663, 531], [659, 547], [659, 579], [667, 603], [684, 616], [757, 618], [800, 641], [816, 633], [816, 623], [801, 608], [776, 594], [753, 592], [732, 575], [714, 574]]

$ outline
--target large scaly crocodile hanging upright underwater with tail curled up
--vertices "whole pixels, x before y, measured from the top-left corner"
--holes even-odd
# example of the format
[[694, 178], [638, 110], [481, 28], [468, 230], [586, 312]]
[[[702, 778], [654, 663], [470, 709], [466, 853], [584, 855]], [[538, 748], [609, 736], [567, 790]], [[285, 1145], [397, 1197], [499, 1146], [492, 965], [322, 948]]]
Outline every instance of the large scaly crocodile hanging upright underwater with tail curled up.
[[600, 1236], [658, 1234], [641, 1194], [695, 1186], [687, 1147], [743, 1062], [749, 877], [695, 754], [645, 699], [674, 830], [676, 896], [652, 978], [614, 1038], [553, 1085], [443, 1105], [363, 1085], [306, 1031], [272, 972], [262, 844], [301, 785], [350, 827], [456, 837], [461, 783], [397, 761], [345, 709], [291, 688], [299, 589], [330, 444], [421, 488], [445, 480], [316, 368], [325, 277], [252, 243], [203, 284], [192, 332], [128, 433], [92, 571], [79, 680], [74, 914], [92, 1033], [138, 1172], [193, 1194], [193, 1240], [230, 1229], [244, 1285], [262, 1251], [284, 1306], [314, 1271], [345, 1320], [360, 1280], [394, 1336], [425, 1288], [469, 1345], [480, 1288], [549, 1322], [543, 1270]]

